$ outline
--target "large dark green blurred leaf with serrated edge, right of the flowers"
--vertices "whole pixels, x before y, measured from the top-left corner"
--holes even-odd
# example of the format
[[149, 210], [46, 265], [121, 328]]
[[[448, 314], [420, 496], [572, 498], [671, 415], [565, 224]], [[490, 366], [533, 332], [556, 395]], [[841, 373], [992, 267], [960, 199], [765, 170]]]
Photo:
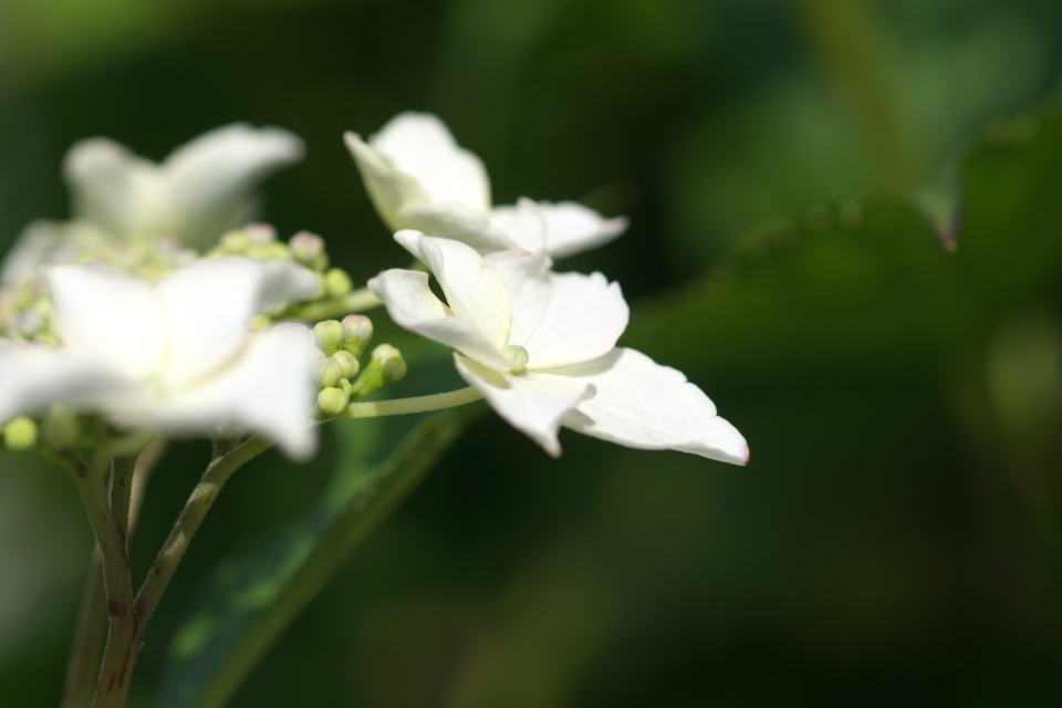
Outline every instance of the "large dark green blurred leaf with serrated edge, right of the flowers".
[[647, 303], [625, 341], [683, 369], [742, 376], [947, 365], [1001, 315], [1058, 292], [1060, 165], [1058, 111], [997, 126], [961, 165], [955, 253], [913, 200], [812, 209]]

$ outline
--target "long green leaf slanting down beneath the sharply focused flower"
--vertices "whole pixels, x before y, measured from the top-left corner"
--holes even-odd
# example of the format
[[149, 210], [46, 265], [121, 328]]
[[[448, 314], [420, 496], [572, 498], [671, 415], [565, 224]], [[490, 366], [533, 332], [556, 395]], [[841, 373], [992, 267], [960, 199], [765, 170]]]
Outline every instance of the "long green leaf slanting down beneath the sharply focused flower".
[[331, 486], [299, 522], [222, 561], [178, 629], [159, 708], [222, 706], [355, 548], [481, 410], [350, 420]]

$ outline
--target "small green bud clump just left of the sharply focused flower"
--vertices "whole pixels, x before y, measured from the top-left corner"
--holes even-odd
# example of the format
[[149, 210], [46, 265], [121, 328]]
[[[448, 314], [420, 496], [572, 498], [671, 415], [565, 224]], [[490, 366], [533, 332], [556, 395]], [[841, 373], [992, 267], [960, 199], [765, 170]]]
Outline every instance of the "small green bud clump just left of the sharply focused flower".
[[363, 314], [314, 325], [313, 341], [321, 351], [316, 366], [321, 418], [341, 415], [351, 400], [389, 386], [406, 375], [402, 353], [389, 344], [381, 344], [365, 356], [372, 339], [373, 323]]

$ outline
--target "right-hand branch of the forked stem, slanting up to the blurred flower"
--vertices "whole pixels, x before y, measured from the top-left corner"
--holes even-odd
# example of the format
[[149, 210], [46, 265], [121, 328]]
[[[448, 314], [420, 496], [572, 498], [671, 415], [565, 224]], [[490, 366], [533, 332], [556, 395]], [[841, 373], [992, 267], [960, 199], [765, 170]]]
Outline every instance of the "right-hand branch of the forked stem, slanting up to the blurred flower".
[[270, 440], [252, 437], [223, 457], [216, 458], [210, 462], [199, 483], [191, 490], [188, 502], [181, 510], [173, 531], [169, 532], [169, 538], [163, 544], [163, 549], [155, 559], [155, 564], [136, 595], [135, 608], [140, 632], [143, 632], [143, 627], [147, 625], [148, 620], [158, 606], [166, 586], [188, 550], [188, 544], [195, 537], [196, 531], [199, 530], [199, 524], [202, 523], [207, 512], [210, 511], [210, 507], [214, 506], [214, 501], [218, 498], [225, 482], [236, 470], [272, 446], [273, 442]]

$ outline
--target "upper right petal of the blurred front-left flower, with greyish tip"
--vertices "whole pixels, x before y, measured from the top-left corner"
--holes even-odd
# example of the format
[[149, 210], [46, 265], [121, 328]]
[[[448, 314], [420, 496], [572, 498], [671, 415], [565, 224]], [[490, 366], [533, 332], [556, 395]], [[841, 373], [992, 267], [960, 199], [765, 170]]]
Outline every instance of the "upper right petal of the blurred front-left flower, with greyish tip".
[[223, 367], [246, 345], [251, 317], [319, 288], [301, 266], [247, 258], [200, 260], [158, 281], [168, 334], [166, 385]]

